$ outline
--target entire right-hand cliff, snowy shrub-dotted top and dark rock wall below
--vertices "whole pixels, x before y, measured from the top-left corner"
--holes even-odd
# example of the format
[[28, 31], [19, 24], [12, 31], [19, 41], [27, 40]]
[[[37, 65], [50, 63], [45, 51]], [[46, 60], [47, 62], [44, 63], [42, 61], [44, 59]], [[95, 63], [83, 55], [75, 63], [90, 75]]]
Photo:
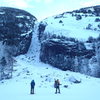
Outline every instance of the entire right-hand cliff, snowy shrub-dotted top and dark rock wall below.
[[40, 22], [40, 60], [62, 70], [100, 77], [100, 6], [65, 12]]

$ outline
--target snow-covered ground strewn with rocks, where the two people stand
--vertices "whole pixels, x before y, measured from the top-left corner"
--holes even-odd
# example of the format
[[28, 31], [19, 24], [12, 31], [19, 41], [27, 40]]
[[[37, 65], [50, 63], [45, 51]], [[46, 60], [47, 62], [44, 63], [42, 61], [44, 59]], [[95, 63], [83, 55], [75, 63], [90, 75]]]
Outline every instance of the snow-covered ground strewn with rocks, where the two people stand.
[[[100, 79], [61, 71], [32, 57], [21, 55], [14, 64], [13, 78], [0, 82], [0, 100], [100, 100]], [[61, 94], [55, 94], [54, 79], [59, 79]], [[81, 80], [73, 83], [71, 79]], [[34, 79], [35, 94], [30, 95], [30, 82]], [[67, 88], [64, 85], [68, 85]]]

